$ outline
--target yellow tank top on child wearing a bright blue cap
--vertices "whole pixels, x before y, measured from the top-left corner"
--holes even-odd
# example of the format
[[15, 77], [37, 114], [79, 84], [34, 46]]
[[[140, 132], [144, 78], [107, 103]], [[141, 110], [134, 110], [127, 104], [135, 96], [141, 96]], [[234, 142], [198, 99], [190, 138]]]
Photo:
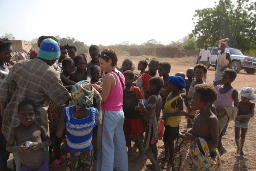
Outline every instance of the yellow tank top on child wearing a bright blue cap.
[[[168, 95], [168, 97], [172, 95], [172, 92]], [[166, 98], [166, 103], [164, 105], [163, 108], [163, 113], [174, 113], [176, 112], [179, 108], [177, 107], [177, 99], [180, 98], [181, 96], [178, 95], [174, 98], [172, 98], [171, 100], [167, 100], [168, 97]], [[172, 108], [172, 102], [174, 102], [176, 100], [176, 104], [175, 104], [175, 108]], [[178, 125], [180, 125], [180, 121], [181, 121], [181, 116], [175, 116], [175, 117], [169, 117], [166, 120], [163, 121], [164, 125], [170, 125], [172, 127], [177, 127]]]

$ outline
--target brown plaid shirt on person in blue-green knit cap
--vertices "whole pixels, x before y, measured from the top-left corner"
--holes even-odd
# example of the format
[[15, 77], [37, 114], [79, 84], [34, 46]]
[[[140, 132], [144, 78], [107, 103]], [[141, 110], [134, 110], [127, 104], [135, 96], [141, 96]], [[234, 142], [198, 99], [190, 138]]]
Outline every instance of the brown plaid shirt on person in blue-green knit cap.
[[24, 99], [33, 100], [37, 105], [35, 123], [48, 131], [47, 109], [52, 100], [61, 106], [70, 95], [61, 83], [59, 74], [43, 60], [22, 60], [10, 69], [0, 85], [0, 101], [7, 102], [4, 110], [2, 133], [6, 140], [12, 127], [20, 125], [17, 106]]

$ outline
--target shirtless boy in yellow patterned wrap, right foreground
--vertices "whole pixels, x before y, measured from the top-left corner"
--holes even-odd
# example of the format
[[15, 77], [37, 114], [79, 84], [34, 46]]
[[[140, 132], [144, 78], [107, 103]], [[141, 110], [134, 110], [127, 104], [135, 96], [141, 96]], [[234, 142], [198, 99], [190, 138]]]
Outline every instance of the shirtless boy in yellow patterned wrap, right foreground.
[[[194, 124], [192, 128], [180, 131], [180, 136], [183, 140], [191, 141], [189, 154], [180, 169], [182, 171], [193, 170], [193, 168], [213, 171], [221, 169], [221, 160], [217, 149], [218, 118], [210, 109], [216, 99], [217, 92], [213, 85], [195, 85], [191, 100], [192, 110], [197, 111]], [[181, 111], [180, 115], [185, 116], [185, 112]], [[197, 150], [197, 147], [199, 150]], [[197, 157], [202, 154], [206, 157]]]

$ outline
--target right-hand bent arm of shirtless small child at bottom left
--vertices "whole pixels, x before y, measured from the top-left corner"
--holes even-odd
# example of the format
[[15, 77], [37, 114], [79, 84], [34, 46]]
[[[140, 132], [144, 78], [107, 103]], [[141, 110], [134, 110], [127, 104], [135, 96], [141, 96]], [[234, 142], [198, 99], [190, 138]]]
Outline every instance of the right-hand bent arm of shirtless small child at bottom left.
[[52, 144], [52, 140], [48, 136], [46, 130], [43, 126], [39, 126], [39, 130], [41, 131], [41, 140], [42, 142], [33, 142], [30, 145], [29, 152], [38, 151], [40, 148], [47, 148]]

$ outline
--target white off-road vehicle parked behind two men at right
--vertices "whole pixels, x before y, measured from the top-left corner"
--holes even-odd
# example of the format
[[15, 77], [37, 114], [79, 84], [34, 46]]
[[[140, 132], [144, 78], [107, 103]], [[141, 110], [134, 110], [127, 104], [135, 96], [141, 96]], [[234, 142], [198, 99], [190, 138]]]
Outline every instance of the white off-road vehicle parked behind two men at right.
[[[239, 49], [236, 48], [227, 48], [230, 50], [230, 57], [232, 60], [231, 69], [239, 72], [241, 69], [244, 69], [248, 74], [256, 73], [256, 58], [247, 57], [242, 54]], [[209, 47], [208, 50], [210, 53], [209, 66], [215, 67], [216, 58], [218, 54], [218, 47]]]

